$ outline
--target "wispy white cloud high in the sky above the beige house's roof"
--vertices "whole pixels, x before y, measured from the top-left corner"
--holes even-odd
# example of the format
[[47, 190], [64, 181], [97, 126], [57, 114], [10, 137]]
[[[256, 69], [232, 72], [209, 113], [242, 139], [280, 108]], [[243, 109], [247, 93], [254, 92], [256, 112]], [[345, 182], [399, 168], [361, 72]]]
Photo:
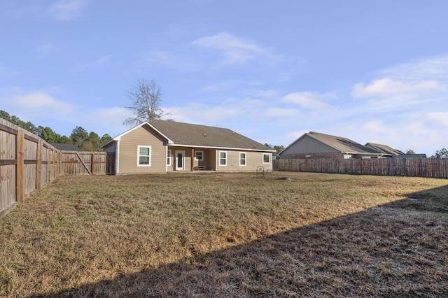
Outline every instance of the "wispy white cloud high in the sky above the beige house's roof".
[[263, 57], [265, 59], [278, 59], [271, 54], [267, 48], [239, 38], [226, 32], [221, 32], [213, 36], [204, 36], [192, 42], [193, 45], [211, 50], [218, 50], [221, 53], [221, 65], [244, 64], [249, 60]]

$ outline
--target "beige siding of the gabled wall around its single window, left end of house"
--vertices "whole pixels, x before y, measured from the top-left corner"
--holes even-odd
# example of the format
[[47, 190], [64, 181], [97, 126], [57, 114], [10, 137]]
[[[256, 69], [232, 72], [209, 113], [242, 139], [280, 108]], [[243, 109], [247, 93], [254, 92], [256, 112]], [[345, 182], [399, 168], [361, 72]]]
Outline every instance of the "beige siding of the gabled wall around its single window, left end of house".
[[[119, 174], [165, 173], [167, 166], [165, 140], [157, 135], [157, 132], [144, 125], [121, 137]], [[138, 146], [151, 146], [151, 166], [137, 166]]]

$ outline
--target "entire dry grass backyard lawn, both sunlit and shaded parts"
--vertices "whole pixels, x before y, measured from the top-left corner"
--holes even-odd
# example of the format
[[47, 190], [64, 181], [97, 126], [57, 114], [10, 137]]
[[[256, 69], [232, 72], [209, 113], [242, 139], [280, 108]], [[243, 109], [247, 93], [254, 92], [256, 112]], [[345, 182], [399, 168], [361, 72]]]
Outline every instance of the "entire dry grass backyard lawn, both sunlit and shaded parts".
[[0, 297], [441, 297], [448, 180], [64, 176], [0, 219]]

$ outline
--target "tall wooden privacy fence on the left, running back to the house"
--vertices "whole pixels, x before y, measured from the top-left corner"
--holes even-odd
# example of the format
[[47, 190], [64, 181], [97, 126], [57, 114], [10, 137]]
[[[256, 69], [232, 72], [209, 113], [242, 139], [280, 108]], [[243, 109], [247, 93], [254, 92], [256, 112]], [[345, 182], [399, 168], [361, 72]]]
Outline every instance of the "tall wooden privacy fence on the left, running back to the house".
[[105, 174], [106, 157], [106, 152], [59, 151], [0, 119], [0, 218], [57, 176]]

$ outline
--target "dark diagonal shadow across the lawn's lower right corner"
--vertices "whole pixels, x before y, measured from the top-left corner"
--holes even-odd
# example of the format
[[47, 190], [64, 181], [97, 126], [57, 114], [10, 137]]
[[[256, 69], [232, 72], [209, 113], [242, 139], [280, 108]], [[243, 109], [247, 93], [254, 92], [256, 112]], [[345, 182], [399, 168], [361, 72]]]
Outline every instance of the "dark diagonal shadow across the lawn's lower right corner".
[[[421, 212], [421, 211], [432, 211]], [[441, 297], [448, 187], [37, 297]]]

